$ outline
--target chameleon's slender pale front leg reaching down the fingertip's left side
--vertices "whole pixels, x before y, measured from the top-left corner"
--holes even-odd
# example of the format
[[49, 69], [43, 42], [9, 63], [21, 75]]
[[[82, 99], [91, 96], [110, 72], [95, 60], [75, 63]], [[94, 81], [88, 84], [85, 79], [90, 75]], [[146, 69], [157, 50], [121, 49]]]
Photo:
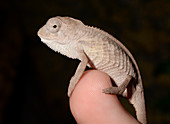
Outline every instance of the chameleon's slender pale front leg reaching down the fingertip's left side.
[[75, 85], [80, 80], [81, 76], [83, 75], [83, 73], [86, 69], [87, 63], [88, 63], [88, 58], [83, 51], [80, 52], [80, 59], [81, 59], [81, 62], [78, 65], [74, 76], [70, 80], [70, 84], [69, 84], [69, 87], [68, 87], [68, 93], [67, 93], [69, 97], [70, 97]]

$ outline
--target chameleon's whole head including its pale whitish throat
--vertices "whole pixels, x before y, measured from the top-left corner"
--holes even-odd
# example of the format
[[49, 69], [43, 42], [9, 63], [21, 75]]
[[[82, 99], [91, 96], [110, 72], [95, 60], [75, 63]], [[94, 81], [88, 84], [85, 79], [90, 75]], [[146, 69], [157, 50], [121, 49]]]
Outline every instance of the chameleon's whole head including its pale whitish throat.
[[38, 36], [52, 50], [70, 58], [79, 58], [77, 41], [83, 36], [84, 24], [70, 17], [53, 17], [39, 29]]

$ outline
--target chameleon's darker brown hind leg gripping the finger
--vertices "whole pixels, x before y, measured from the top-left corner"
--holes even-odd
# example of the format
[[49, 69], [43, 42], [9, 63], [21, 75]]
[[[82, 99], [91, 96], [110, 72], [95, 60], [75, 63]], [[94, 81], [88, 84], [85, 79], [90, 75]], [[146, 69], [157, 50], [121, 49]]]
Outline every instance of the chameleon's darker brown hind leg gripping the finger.
[[124, 91], [126, 90], [131, 79], [132, 79], [132, 76], [127, 75], [126, 79], [122, 82], [120, 86], [109, 87], [109, 88], [103, 89], [103, 92], [106, 94], [122, 95], [126, 97], [126, 94], [124, 94]]

